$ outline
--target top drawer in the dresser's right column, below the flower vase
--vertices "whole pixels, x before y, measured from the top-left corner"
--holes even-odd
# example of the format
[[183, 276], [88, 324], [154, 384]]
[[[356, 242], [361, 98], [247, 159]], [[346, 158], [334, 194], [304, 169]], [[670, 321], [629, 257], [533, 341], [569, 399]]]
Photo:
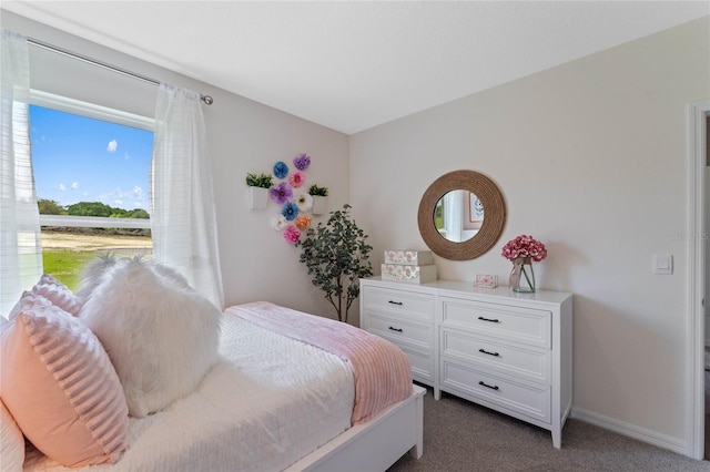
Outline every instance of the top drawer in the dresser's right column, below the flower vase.
[[446, 297], [442, 298], [442, 309], [444, 326], [540, 348], [552, 347], [550, 311]]

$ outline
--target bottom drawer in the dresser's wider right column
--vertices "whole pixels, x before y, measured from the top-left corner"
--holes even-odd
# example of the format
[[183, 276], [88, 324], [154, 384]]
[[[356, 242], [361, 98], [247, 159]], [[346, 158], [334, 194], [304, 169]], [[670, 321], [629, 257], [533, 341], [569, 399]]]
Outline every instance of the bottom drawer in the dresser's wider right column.
[[535, 386], [503, 379], [490, 372], [442, 361], [442, 389], [447, 387], [474, 401], [493, 403], [535, 420], [551, 421], [549, 386]]

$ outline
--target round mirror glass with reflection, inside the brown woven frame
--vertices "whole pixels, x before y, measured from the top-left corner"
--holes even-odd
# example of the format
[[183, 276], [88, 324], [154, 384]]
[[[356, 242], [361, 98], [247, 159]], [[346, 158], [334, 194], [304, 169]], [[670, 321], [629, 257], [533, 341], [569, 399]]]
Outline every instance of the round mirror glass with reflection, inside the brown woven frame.
[[434, 207], [434, 226], [452, 243], [466, 242], [484, 223], [484, 205], [476, 194], [465, 189], [447, 192]]

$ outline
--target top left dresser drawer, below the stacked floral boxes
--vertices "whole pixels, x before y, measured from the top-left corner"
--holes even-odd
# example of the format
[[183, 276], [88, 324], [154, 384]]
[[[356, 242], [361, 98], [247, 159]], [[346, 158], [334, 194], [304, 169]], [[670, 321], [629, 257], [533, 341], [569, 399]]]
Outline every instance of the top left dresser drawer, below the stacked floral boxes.
[[366, 311], [383, 311], [403, 317], [434, 320], [434, 295], [399, 289], [365, 287], [363, 304]]

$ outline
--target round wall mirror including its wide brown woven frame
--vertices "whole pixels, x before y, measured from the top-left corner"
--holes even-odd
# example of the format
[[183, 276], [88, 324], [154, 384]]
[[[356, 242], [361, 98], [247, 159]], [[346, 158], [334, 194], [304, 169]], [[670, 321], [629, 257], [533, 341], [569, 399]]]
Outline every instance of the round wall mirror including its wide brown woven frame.
[[419, 233], [437, 255], [452, 260], [473, 259], [500, 237], [506, 205], [496, 184], [473, 171], [442, 175], [419, 203]]

